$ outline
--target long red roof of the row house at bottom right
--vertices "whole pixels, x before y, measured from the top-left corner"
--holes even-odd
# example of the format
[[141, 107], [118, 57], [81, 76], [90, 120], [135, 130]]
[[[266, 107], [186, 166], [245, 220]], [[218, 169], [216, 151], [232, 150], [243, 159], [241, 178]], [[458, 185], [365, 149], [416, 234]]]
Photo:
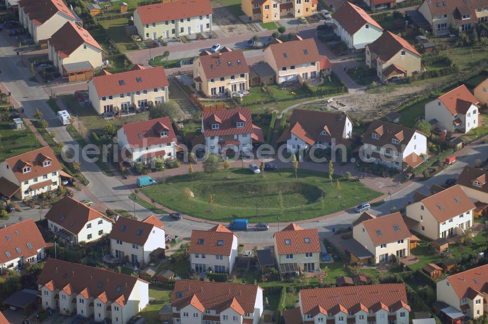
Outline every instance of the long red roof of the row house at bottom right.
[[[407, 303], [405, 284], [370, 284], [360, 286], [345, 286], [332, 288], [314, 288], [300, 290], [302, 312], [307, 314], [315, 307], [321, 306], [327, 313], [337, 313], [338, 309], [348, 310], [353, 315], [361, 309], [389, 308], [403, 302], [403, 306], [410, 310]], [[337, 309], [335, 309], [337, 308]], [[332, 315], [330, 315], [332, 316]]]

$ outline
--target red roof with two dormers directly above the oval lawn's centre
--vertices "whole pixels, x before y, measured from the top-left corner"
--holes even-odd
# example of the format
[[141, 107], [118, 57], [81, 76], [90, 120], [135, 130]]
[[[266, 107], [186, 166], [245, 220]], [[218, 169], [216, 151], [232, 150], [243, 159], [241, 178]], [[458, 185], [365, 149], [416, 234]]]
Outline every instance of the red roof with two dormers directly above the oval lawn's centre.
[[[245, 121], [242, 120], [244, 117]], [[252, 134], [251, 109], [236, 108], [202, 112], [203, 135], [221, 136]], [[237, 122], [244, 122], [244, 127], [237, 127]], [[220, 124], [219, 129], [212, 129], [212, 124]]]

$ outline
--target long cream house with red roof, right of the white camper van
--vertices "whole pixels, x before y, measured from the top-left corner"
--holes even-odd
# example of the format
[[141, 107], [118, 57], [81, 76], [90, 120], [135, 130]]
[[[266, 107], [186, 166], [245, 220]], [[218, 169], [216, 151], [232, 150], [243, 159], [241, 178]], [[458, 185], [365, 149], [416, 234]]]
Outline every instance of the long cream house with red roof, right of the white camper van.
[[168, 101], [169, 82], [163, 66], [93, 77], [88, 98], [98, 114], [129, 111]]

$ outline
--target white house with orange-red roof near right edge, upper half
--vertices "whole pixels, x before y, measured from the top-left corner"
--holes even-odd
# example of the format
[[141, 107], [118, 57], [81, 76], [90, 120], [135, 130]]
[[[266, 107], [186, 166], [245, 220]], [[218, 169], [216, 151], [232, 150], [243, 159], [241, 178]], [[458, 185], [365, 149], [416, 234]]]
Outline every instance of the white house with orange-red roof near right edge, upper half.
[[479, 101], [462, 84], [426, 103], [426, 121], [439, 129], [463, 133], [478, 127]]

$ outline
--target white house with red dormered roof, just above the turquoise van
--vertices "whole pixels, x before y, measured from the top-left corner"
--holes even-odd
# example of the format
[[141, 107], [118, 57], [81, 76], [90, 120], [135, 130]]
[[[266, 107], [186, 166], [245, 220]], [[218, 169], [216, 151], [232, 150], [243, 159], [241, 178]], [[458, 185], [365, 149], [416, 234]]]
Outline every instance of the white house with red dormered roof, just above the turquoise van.
[[177, 140], [169, 117], [124, 124], [117, 138], [122, 159], [131, 165], [176, 159]]

